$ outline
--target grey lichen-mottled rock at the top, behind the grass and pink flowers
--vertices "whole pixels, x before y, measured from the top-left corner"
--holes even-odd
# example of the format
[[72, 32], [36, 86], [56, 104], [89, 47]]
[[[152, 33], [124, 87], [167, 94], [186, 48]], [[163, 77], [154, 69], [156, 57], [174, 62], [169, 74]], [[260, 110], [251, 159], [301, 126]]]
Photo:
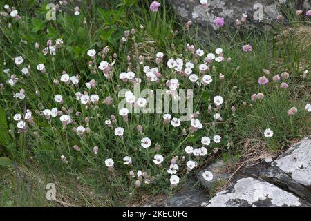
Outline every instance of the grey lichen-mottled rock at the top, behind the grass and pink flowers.
[[[305, 7], [308, 2], [305, 0]], [[225, 17], [226, 23], [235, 23], [241, 19], [243, 13], [247, 20], [252, 23], [270, 22], [279, 15], [279, 6], [288, 4], [289, 0], [209, 0], [207, 8], [202, 8], [200, 0], [169, 0], [185, 22], [198, 21], [202, 28], [212, 27], [218, 29], [214, 24], [216, 17]], [[292, 6], [295, 7], [294, 5]]]

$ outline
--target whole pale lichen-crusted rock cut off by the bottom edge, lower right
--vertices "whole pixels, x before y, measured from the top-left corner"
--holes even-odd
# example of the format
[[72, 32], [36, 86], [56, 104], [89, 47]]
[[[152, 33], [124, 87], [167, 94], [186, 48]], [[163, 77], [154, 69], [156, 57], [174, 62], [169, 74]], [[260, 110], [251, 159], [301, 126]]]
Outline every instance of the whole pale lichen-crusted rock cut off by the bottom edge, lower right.
[[207, 207], [310, 206], [292, 193], [265, 181], [246, 177], [236, 180], [225, 191], [209, 200]]

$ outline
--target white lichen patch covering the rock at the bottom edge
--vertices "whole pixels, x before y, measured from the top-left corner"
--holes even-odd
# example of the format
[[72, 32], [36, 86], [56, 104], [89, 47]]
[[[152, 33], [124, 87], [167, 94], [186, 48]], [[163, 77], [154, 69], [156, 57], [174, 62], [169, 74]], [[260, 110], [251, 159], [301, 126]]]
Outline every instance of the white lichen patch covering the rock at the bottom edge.
[[[271, 206], [300, 206], [299, 198], [292, 193], [283, 191], [273, 184], [255, 180], [254, 178], [242, 178], [236, 182], [234, 189], [228, 193], [217, 194], [209, 200], [207, 207], [227, 207], [236, 200], [245, 200], [250, 206], [258, 200], [271, 200]], [[267, 205], [269, 206], [269, 205]]]

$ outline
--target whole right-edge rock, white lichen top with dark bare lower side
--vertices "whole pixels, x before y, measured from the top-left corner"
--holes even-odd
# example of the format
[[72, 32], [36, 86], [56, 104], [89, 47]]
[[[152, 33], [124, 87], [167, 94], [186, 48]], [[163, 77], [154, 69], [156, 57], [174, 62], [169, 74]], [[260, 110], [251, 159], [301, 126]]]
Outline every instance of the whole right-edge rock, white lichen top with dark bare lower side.
[[311, 202], [311, 139], [294, 144], [272, 163], [262, 162], [241, 173], [260, 177]]

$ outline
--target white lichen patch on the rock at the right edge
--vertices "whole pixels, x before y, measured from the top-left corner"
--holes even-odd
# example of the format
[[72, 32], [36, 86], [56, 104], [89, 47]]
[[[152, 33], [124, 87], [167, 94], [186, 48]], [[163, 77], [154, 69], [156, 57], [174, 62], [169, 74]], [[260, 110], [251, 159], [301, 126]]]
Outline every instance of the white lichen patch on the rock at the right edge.
[[292, 179], [300, 184], [311, 185], [311, 140], [305, 139], [292, 146], [288, 155], [275, 160], [285, 173], [291, 173]]

